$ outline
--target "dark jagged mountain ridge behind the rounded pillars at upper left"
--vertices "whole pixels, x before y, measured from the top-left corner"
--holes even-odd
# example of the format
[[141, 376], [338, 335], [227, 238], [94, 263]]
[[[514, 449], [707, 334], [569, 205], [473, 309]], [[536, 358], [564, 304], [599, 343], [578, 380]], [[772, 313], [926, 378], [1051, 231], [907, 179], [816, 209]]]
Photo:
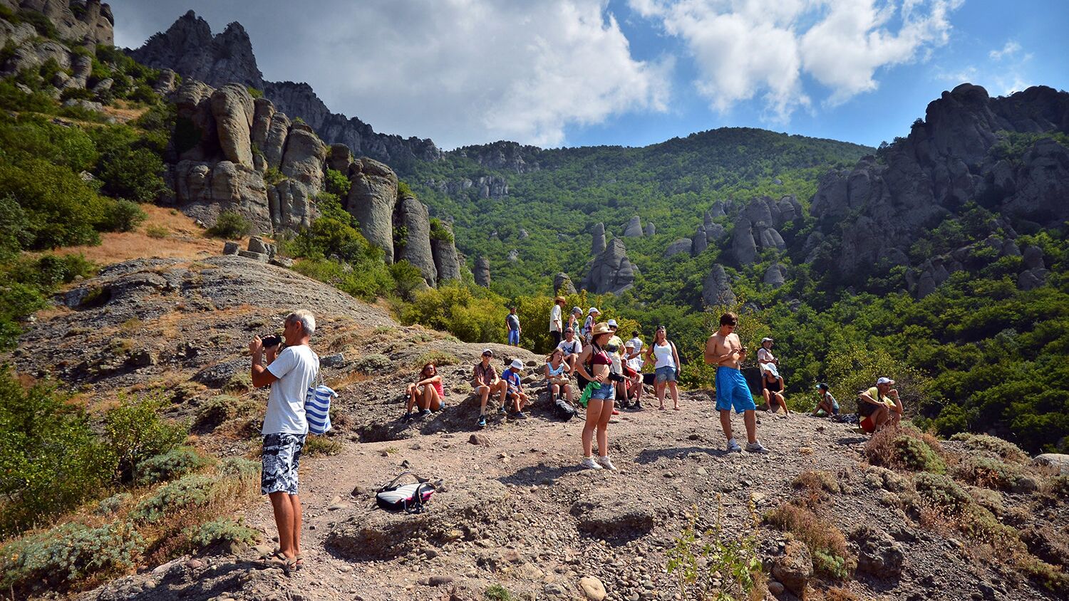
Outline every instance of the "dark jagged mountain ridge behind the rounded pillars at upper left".
[[441, 156], [430, 140], [376, 133], [356, 117], [331, 113], [307, 83], [265, 81], [252, 53], [252, 42], [236, 21], [213, 35], [208, 23], [189, 11], [166, 32], [153, 35], [143, 46], [128, 52], [142, 64], [173, 69], [183, 78], [215, 86], [236, 82], [262, 90], [279, 111], [303, 118], [322, 140], [345, 144], [358, 156], [390, 163], [414, 158], [435, 160]]

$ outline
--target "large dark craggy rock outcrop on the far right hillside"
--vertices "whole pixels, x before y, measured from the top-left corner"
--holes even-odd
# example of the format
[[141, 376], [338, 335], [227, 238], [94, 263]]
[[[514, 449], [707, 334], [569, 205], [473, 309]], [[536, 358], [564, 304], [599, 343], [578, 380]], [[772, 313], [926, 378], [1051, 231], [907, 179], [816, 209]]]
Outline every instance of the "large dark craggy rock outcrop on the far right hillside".
[[[850, 276], [876, 265], [908, 266], [914, 241], [970, 201], [1040, 225], [1069, 218], [1069, 148], [1038, 139], [1020, 157], [1007, 157], [995, 148], [1001, 131], [1069, 132], [1069, 94], [1035, 86], [990, 98], [963, 83], [930, 102], [925, 120], [882, 152], [882, 160], [866, 157], [852, 170], [825, 175], [810, 212], [820, 220], [834, 269]], [[837, 228], [840, 242], [828, 239]], [[932, 282], [942, 278], [941, 262], [946, 268], [943, 259], [925, 268]]]

